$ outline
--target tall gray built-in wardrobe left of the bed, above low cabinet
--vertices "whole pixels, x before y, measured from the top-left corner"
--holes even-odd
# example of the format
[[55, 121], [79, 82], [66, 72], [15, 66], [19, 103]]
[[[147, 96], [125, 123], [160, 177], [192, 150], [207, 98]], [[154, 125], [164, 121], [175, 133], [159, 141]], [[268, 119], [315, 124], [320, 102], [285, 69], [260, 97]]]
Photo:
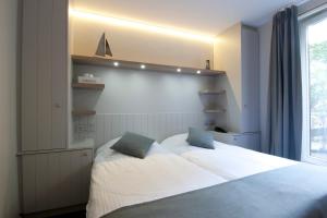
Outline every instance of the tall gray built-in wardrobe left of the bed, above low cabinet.
[[68, 0], [24, 0], [21, 150], [66, 147]]

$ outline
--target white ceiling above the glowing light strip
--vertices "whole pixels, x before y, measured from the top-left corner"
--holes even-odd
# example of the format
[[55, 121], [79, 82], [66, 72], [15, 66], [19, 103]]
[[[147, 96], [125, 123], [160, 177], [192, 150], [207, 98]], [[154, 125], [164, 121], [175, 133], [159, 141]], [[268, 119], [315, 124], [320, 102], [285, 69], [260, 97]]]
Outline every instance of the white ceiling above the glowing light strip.
[[259, 26], [279, 9], [303, 0], [71, 0], [102, 15], [217, 35], [238, 22]]

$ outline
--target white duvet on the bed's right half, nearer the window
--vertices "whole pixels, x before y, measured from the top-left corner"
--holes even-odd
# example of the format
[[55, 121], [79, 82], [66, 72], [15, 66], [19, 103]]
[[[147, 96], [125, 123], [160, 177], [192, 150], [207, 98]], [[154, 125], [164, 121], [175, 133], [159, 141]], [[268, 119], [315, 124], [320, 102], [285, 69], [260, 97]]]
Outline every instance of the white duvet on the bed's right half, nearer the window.
[[296, 161], [228, 145], [215, 141], [215, 149], [190, 146], [187, 134], [165, 140], [160, 145], [227, 180], [296, 165]]

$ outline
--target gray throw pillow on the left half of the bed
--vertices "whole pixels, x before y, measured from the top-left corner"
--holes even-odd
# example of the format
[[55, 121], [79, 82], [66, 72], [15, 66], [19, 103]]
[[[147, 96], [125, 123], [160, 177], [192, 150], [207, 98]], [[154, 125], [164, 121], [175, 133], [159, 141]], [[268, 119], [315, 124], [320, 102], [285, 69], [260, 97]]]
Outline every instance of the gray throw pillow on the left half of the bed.
[[155, 140], [145, 137], [143, 135], [126, 132], [117, 143], [112, 145], [111, 149], [124, 155], [143, 159], [154, 142]]

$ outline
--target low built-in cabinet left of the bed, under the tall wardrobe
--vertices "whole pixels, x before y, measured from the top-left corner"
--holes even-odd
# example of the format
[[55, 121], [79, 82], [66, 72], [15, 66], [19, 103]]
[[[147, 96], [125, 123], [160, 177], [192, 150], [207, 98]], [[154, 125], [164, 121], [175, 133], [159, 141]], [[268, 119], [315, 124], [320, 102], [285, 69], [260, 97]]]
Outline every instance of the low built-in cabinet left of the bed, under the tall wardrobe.
[[93, 149], [23, 155], [23, 214], [87, 203]]

